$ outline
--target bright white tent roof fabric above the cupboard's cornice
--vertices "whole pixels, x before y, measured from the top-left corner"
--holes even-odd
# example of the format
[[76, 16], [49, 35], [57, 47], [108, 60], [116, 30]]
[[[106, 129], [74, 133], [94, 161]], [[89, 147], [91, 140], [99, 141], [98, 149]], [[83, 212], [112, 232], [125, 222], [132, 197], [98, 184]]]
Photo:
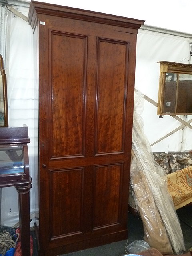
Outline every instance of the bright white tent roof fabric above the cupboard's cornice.
[[190, 33], [191, 0], [41, 0], [96, 12], [146, 20], [145, 24]]

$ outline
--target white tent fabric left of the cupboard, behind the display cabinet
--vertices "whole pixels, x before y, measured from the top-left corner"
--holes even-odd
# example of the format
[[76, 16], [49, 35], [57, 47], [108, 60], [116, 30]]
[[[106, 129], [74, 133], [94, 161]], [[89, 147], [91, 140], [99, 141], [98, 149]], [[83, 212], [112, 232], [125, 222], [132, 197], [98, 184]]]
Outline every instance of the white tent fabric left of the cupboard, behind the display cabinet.
[[[28, 8], [19, 11], [28, 16]], [[8, 84], [9, 126], [28, 126], [28, 144], [32, 189], [30, 192], [31, 213], [35, 211], [37, 170], [34, 170], [34, 65], [33, 34], [27, 22], [8, 12], [8, 38], [6, 52], [6, 75]], [[37, 205], [37, 204], [36, 204]], [[13, 226], [18, 222], [18, 195], [14, 187], [2, 188], [2, 225]]]

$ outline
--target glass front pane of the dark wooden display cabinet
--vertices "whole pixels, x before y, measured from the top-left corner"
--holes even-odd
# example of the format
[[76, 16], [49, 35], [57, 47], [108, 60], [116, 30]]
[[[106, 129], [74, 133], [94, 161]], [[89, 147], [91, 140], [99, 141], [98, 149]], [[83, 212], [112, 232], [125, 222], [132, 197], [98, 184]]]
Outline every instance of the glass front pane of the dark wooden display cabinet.
[[0, 147], [0, 175], [24, 173], [23, 146]]

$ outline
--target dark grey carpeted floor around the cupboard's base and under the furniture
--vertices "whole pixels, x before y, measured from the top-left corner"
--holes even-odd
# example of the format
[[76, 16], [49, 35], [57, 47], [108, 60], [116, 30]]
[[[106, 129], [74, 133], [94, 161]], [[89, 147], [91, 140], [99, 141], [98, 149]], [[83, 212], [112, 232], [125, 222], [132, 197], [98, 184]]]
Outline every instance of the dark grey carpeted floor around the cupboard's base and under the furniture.
[[[184, 236], [186, 251], [192, 247], [192, 205], [177, 210]], [[138, 216], [128, 213], [128, 240], [114, 242], [62, 256], [124, 256], [126, 244], [143, 239], [143, 225]], [[38, 256], [35, 248], [33, 256]]]

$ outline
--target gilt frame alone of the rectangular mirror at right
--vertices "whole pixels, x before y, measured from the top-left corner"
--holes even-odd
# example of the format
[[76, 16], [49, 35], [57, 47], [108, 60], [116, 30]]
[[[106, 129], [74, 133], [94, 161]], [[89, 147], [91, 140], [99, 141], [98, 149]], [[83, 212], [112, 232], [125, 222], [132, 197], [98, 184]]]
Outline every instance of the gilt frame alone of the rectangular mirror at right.
[[[160, 63], [160, 78], [159, 78], [159, 92], [158, 92], [158, 106], [157, 114], [162, 115], [192, 115], [192, 113], [164, 113], [164, 92], [166, 83], [166, 73], [175, 74], [190, 74], [192, 75], [192, 64], [184, 64], [177, 62], [159, 61]], [[178, 98], [178, 97], [177, 97]], [[177, 100], [177, 99], [176, 99]]]

